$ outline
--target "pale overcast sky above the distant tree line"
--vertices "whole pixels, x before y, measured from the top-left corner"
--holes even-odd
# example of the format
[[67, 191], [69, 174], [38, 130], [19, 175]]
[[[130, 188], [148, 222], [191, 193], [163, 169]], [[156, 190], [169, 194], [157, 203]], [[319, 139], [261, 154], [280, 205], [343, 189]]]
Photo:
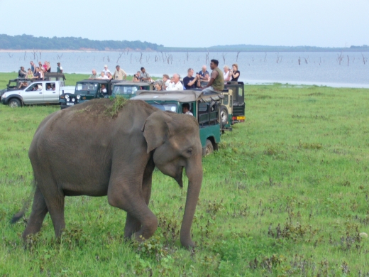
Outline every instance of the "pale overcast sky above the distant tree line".
[[369, 0], [4, 1], [0, 33], [174, 47], [369, 45]]

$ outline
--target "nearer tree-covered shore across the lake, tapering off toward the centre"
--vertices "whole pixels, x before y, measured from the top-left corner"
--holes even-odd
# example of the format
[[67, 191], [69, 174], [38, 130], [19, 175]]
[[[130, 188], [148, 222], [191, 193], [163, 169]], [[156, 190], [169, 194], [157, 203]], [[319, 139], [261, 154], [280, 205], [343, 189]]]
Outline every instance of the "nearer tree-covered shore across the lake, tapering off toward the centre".
[[0, 49], [6, 50], [158, 50], [159, 47], [163, 47], [163, 45], [140, 40], [89, 40], [80, 37], [45, 38], [31, 35], [0, 35]]

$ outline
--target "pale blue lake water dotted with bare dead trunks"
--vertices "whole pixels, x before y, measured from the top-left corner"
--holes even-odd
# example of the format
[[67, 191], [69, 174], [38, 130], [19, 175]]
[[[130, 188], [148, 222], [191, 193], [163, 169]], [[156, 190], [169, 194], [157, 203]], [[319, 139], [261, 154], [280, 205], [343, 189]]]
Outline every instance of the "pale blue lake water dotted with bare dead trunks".
[[[121, 55], [121, 57], [120, 57]], [[206, 57], [206, 55], [208, 55]], [[341, 55], [341, 58], [340, 58]], [[119, 58], [120, 57], [120, 58]], [[331, 87], [368, 87], [369, 53], [158, 53], [158, 52], [1, 52], [0, 72], [18, 71], [29, 62], [50, 61], [52, 71], [60, 62], [64, 72], [97, 72], [108, 65], [114, 71], [116, 64], [128, 75], [133, 75], [145, 67], [150, 75], [161, 77], [177, 72], [187, 75], [189, 67], [201, 70], [206, 61], [215, 58], [219, 67], [238, 63], [240, 80], [248, 84], [272, 82], [293, 85], [327, 85]], [[119, 60], [118, 60], [119, 59]], [[300, 63], [299, 63], [300, 60]], [[341, 64], [340, 64], [341, 61]], [[364, 63], [365, 62], [365, 63]], [[208, 62], [209, 64], [209, 62]], [[209, 65], [208, 65], [209, 70]]]

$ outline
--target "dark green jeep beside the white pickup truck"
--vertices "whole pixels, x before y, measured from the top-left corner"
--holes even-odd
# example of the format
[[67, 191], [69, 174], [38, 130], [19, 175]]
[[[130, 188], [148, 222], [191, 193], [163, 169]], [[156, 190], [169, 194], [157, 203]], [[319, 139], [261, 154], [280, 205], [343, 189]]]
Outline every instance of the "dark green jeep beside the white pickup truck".
[[[83, 103], [94, 98], [104, 98], [111, 95], [113, 84], [121, 82], [119, 80], [83, 80], [76, 83], [75, 93], [66, 93], [60, 95], [60, 108], [65, 109], [75, 104]], [[106, 94], [102, 92], [101, 87], [105, 87]]]

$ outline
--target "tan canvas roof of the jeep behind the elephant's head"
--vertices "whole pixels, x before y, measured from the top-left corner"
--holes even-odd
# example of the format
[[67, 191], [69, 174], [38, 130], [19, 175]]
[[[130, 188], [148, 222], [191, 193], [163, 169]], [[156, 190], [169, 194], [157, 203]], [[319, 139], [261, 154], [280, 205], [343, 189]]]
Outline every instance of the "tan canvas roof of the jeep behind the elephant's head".
[[211, 102], [219, 101], [223, 98], [220, 93], [205, 93], [201, 90], [182, 90], [182, 91], [156, 91], [156, 90], [138, 90], [134, 100], [158, 100], [158, 101], [178, 101], [178, 102]]

